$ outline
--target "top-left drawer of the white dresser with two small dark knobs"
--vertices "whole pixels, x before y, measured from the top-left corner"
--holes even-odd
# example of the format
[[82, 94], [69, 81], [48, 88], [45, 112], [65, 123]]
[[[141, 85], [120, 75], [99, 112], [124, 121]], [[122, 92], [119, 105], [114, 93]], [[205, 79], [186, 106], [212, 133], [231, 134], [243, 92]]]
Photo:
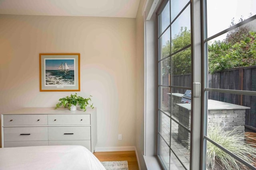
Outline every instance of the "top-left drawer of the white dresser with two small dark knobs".
[[4, 126], [47, 125], [47, 115], [4, 115]]

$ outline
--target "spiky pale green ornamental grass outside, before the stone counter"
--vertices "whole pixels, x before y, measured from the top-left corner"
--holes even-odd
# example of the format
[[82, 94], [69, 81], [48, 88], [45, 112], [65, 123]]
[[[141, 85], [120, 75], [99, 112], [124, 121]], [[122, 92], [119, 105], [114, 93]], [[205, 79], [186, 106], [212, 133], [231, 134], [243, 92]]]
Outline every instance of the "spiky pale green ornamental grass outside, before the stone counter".
[[[235, 130], [221, 131], [220, 127], [209, 127], [208, 137], [249, 164], [255, 166], [256, 145], [253, 143], [246, 143], [244, 133], [238, 134], [234, 131]], [[208, 169], [218, 170], [219, 167], [222, 167], [225, 170], [234, 170], [241, 169], [241, 166], [243, 165], [241, 165], [235, 158], [224, 152], [216, 145], [209, 141], [207, 142]]]

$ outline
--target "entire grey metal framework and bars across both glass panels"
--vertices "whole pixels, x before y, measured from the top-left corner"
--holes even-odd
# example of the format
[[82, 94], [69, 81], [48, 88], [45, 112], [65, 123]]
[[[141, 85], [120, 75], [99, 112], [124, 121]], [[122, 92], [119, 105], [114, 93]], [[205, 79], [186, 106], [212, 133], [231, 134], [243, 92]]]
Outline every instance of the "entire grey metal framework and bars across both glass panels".
[[[188, 88], [189, 90], [192, 90], [192, 95], [194, 94], [194, 85], [193, 82], [199, 82], [201, 85], [201, 96], [200, 97], [193, 97], [192, 98], [192, 105], [191, 105], [191, 137], [190, 137], [190, 169], [206, 169], [206, 141], [213, 143], [214, 145], [220, 147], [222, 150], [224, 150], [226, 153], [230, 154], [234, 158], [236, 158], [238, 161], [243, 163], [244, 165], [248, 166], [249, 168], [255, 168], [254, 166], [251, 166], [238, 156], [232, 154], [225, 148], [221, 147], [211, 139], [207, 137], [207, 102], [208, 102], [208, 92], [221, 92], [221, 93], [229, 93], [229, 94], [242, 94], [242, 95], [248, 95], [248, 96], [256, 96], [256, 92], [254, 91], [245, 91], [245, 90], [227, 90], [227, 89], [216, 89], [216, 88], [209, 88], [208, 87], [208, 47], [207, 42], [224, 34], [227, 33], [233, 29], [236, 29], [246, 23], [249, 23], [252, 20], [256, 20], [256, 15], [240, 22], [232, 27], [229, 27], [227, 29], [224, 29], [223, 31], [220, 31], [211, 37], [207, 37], [207, 12], [206, 12], [206, 2], [207, 0], [191, 0], [190, 2], [190, 20], [191, 20], [191, 44], [187, 47], [183, 47], [182, 49], [176, 51], [175, 53], [178, 53], [188, 47], [191, 47], [191, 67], [192, 67], [192, 74], [191, 74], [191, 88]], [[175, 55], [175, 53], [170, 53], [169, 56], [161, 58], [160, 57], [160, 51], [159, 51], [159, 41], [158, 38], [161, 37], [161, 35], [164, 34], [165, 31], [168, 30], [168, 28], [171, 29], [171, 24], [178, 18], [178, 16], [181, 14], [181, 12], [186, 8], [184, 7], [182, 11], [178, 14], [178, 16], [175, 17], [173, 21], [171, 21], [171, 11], [170, 11], [170, 25], [166, 27], [166, 29], [159, 34], [159, 30], [161, 29], [159, 27], [159, 18], [158, 15], [164, 10], [165, 5], [168, 3], [168, 0], [162, 0], [157, 12], [156, 12], [156, 35], [157, 35], [157, 63], [160, 61], [163, 61], [164, 59], [167, 59], [168, 57], [171, 57], [172, 55]], [[171, 2], [170, 2], [171, 3]], [[188, 4], [187, 4], [188, 5]], [[171, 4], [170, 4], [171, 6]], [[170, 9], [171, 10], [171, 9]], [[171, 30], [170, 30], [170, 37], [171, 37]], [[160, 58], [159, 58], [160, 57]], [[194, 66], [195, 63], [198, 63], [200, 68]], [[157, 64], [157, 70], [158, 70], [158, 107], [157, 107], [157, 117], [158, 117], [158, 123], [157, 123], [157, 150], [159, 150], [159, 129], [160, 129], [160, 112], [164, 114], [163, 111], [161, 111], [160, 108], [160, 87], [164, 87], [165, 85], [160, 85], [160, 73], [159, 73], [159, 64]], [[200, 76], [194, 76], [194, 75], [200, 75]], [[169, 88], [184, 88], [181, 86], [172, 86], [172, 83], [169, 84]], [[187, 89], [187, 88], [184, 88]], [[170, 101], [169, 101], [170, 102]], [[196, 103], [196, 105], [195, 105]], [[200, 106], [200, 107], [198, 107]], [[194, 114], [194, 113], [195, 114]], [[172, 116], [170, 116], [170, 119]], [[202, 120], [202, 121], [201, 121]], [[195, 123], [200, 121], [201, 123]], [[170, 127], [171, 131], [171, 127]], [[200, 141], [198, 145], [198, 140]], [[169, 144], [170, 151], [171, 146]], [[157, 151], [157, 155], [159, 152]], [[200, 156], [199, 156], [200, 155]], [[158, 160], [163, 164], [162, 160], [157, 156]]]

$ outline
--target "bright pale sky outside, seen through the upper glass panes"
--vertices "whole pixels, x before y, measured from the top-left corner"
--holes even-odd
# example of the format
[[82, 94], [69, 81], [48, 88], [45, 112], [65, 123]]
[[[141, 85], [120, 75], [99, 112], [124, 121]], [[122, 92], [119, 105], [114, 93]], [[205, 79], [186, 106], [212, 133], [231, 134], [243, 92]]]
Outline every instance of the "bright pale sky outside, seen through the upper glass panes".
[[[178, 12], [188, 3], [188, 0], [177, 1], [171, 0], [172, 20], [177, 16]], [[169, 4], [169, 2], [168, 2]], [[238, 23], [241, 16], [247, 19], [250, 12], [252, 16], [256, 15], [256, 0], [207, 0], [207, 31], [208, 37], [227, 29], [230, 26], [232, 18]], [[179, 18], [172, 24], [172, 38], [180, 31], [180, 27], [188, 27], [190, 29], [190, 6], [186, 8]], [[162, 12], [162, 31], [170, 23], [170, 10], [165, 8]], [[254, 20], [256, 22], [256, 20]], [[256, 25], [256, 24], [254, 24]], [[170, 40], [170, 31], [166, 31], [162, 35], [162, 45]], [[222, 40], [226, 35], [217, 37], [215, 40]]]

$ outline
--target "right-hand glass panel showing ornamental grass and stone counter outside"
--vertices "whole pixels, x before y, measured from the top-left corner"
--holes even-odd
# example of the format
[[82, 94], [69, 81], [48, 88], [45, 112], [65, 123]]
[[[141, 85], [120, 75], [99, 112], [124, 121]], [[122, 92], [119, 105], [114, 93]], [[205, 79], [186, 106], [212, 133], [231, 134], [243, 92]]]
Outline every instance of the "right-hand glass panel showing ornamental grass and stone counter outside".
[[256, 1], [203, 4], [202, 167], [256, 169]]

